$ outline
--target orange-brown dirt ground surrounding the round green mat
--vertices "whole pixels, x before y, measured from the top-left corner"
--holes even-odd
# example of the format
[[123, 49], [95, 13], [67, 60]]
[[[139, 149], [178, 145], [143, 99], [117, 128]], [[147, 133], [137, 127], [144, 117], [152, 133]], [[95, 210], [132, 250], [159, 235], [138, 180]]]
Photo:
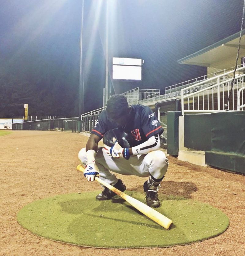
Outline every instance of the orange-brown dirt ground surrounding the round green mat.
[[[25, 230], [16, 217], [24, 205], [49, 196], [101, 188], [76, 171], [78, 151], [87, 139], [81, 134], [55, 131], [13, 131], [0, 137], [0, 255], [245, 255], [245, 176], [174, 157], [168, 157], [169, 168], [159, 193], [219, 208], [230, 219], [223, 234], [170, 248], [95, 249], [54, 242]], [[123, 178], [127, 189], [142, 191], [139, 184], [145, 179], [117, 176]]]

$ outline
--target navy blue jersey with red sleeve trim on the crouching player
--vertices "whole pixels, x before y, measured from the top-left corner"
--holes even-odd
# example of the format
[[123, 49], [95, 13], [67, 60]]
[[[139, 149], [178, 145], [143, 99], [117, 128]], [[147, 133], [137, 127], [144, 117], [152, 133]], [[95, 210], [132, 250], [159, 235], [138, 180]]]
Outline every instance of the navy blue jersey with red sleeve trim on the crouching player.
[[163, 128], [153, 111], [143, 105], [131, 106], [130, 117], [125, 127], [118, 126], [113, 120], [108, 118], [107, 112], [104, 110], [96, 121], [91, 133], [103, 138], [108, 130], [114, 128], [119, 128], [129, 135], [131, 147], [140, 145], [155, 134], [163, 133]]

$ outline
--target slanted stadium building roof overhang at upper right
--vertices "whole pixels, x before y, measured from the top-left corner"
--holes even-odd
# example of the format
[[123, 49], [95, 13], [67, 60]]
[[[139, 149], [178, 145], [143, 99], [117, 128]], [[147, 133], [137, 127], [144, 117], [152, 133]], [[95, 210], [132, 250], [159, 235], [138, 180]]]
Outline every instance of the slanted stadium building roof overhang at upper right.
[[[240, 45], [239, 56], [245, 55], [245, 29], [242, 30], [242, 38]], [[177, 60], [179, 64], [190, 64], [205, 67], [217, 67], [220, 66], [222, 60], [236, 56], [239, 43], [240, 31], [229, 37], [226, 37], [213, 45], [203, 48], [198, 52], [194, 52], [180, 60]]]

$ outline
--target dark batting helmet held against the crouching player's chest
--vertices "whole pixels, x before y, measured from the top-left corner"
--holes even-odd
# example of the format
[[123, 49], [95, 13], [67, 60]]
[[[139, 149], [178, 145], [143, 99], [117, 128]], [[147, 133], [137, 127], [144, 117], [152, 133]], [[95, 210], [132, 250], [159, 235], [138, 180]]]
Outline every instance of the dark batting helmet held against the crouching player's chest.
[[112, 140], [113, 137], [116, 138], [116, 140], [118, 141], [119, 145], [122, 148], [130, 148], [130, 144], [129, 144], [130, 138], [128, 134], [125, 131], [120, 130], [119, 128], [115, 128], [107, 131], [104, 134], [103, 143], [107, 146], [112, 147], [114, 145], [114, 142]]

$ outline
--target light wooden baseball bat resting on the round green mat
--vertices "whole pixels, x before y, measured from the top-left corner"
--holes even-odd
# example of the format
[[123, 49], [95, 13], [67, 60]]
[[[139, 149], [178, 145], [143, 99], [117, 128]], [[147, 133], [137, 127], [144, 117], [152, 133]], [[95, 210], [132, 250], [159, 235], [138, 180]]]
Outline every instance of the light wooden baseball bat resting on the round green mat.
[[[82, 165], [77, 166], [77, 171], [84, 172], [84, 167]], [[146, 215], [148, 218], [152, 219], [156, 223], [158, 223], [160, 226], [164, 227], [165, 229], [170, 229], [173, 222], [171, 219], [168, 219], [166, 216], [162, 215], [160, 212], [154, 210], [153, 208], [149, 207], [148, 205], [140, 202], [139, 200], [123, 193], [122, 191], [118, 190], [117, 188], [114, 188], [107, 182], [101, 180], [98, 177], [95, 177], [95, 180], [100, 182], [105, 187], [109, 188], [111, 191], [115, 192], [117, 195], [122, 197], [124, 200], [126, 200], [128, 203], [130, 203], [134, 208], [136, 208], [138, 211], [142, 212], [144, 215]]]

